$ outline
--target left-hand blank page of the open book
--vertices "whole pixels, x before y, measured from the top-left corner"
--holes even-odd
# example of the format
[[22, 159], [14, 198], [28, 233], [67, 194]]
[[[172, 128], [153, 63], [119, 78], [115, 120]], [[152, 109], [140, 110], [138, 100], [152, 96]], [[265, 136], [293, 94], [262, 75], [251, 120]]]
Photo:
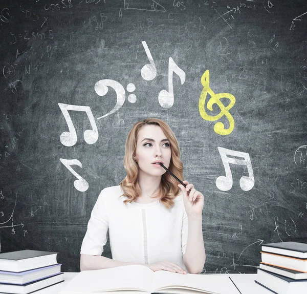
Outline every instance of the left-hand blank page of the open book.
[[119, 290], [150, 292], [153, 271], [143, 265], [125, 265], [79, 272], [61, 291], [90, 293]]

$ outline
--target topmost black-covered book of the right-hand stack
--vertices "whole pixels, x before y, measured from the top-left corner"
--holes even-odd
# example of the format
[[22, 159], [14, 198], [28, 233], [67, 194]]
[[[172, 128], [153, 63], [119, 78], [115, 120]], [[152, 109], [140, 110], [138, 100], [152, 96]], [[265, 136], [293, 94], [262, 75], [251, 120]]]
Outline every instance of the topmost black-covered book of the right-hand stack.
[[307, 258], [307, 244], [298, 242], [278, 242], [262, 244], [262, 251], [297, 258]]

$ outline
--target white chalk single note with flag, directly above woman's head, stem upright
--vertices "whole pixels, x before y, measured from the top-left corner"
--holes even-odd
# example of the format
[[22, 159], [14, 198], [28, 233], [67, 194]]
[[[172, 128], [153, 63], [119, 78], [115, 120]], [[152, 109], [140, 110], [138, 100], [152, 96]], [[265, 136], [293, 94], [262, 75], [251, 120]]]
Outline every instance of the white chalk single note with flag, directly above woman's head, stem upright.
[[163, 108], [170, 108], [174, 103], [174, 91], [173, 91], [173, 73], [176, 73], [180, 77], [181, 85], [185, 82], [185, 72], [178, 67], [175, 61], [169, 57], [168, 59], [168, 91], [162, 90], [159, 93], [159, 103]]

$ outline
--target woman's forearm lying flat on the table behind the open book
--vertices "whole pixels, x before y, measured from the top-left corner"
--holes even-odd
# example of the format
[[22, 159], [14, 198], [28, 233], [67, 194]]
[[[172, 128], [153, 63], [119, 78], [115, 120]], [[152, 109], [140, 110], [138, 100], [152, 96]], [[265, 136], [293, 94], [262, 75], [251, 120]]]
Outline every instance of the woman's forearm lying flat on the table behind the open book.
[[122, 265], [131, 265], [131, 264], [138, 264], [138, 265], [145, 265], [141, 263], [130, 263], [130, 262], [123, 262], [113, 260], [111, 258], [107, 258], [104, 256], [98, 255], [87, 255], [81, 254], [80, 255], [80, 270], [92, 270], [92, 269], [103, 269], [109, 267], [117, 267]]

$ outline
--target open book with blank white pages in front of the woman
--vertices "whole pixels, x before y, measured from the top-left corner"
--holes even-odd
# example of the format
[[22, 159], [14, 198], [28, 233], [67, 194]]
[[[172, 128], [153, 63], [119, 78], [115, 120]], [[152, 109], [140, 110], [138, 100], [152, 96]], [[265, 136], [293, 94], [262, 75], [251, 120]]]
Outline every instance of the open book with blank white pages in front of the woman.
[[224, 275], [182, 275], [165, 270], [152, 271], [145, 265], [124, 265], [79, 272], [59, 294], [89, 294], [119, 291], [120, 294], [239, 294]]

